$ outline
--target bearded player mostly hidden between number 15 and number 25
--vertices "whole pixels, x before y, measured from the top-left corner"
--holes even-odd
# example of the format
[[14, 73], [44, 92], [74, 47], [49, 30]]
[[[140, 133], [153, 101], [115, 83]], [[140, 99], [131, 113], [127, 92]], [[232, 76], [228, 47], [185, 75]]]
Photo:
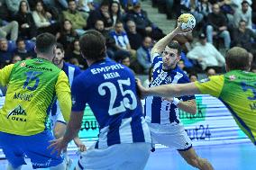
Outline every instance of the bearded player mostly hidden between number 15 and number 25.
[[[63, 46], [59, 43], [56, 45], [55, 57], [53, 58], [53, 63], [62, 69], [69, 78], [69, 85], [73, 84], [74, 78], [81, 73], [79, 67], [70, 65], [69, 63], [64, 62], [64, 49]], [[50, 111], [50, 126], [53, 129], [53, 134], [56, 139], [59, 139], [64, 136], [65, 130], [67, 128], [67, 123], [63, 118], [63, 115], [60, 111], [58, 100], [52, 104]], [[74, 138], [75, 144], [78, 146], [80, 151], [85, 151], [87, 148], [83, 142], [76, 136]], [[67, 169], [72, 165], [72, 160], [69, 158], [67, 153], [67, 148], [63, 150], [64, 160], [67, 164]]]

